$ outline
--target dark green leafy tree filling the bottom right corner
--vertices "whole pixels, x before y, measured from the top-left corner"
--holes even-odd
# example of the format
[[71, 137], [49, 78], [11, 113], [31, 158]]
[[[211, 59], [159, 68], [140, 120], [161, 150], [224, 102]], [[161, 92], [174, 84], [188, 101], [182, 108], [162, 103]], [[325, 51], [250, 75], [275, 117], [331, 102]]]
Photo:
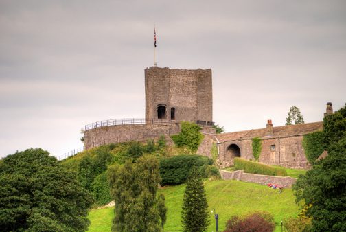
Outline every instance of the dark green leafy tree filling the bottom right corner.
[[346, 136], [299, 176], [293, 189], [297, 202], [311, 205], [306, 214], [312, 217], [313, 231], [346, 231]]

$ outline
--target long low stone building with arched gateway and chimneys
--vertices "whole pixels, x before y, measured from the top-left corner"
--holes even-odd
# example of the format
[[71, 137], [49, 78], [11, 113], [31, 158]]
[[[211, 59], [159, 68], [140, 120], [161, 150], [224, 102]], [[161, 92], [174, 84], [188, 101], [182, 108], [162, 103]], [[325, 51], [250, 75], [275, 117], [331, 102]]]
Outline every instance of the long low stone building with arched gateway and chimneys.
[[[328, 102], [324, 115], [332, 113], [332, 103]], [[262, 141], [260, 162], [308, 168], [310, 163], [305, 157], [303, 136], [319, 130], [323, 130], [323, 121], [274, 127], [268, 120], [266, 128], [216, 135], [220, 165], [233, 165], [234, 157], [253, 160], [252, 139], [258, 137]]]

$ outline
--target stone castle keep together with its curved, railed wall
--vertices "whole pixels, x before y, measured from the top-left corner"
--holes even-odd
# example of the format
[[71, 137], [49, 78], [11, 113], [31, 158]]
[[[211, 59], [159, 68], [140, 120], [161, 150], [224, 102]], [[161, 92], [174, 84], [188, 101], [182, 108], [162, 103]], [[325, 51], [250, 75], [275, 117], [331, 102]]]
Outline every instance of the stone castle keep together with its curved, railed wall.
[[[180, 132], [180, 121], [193, 121], [215, 132], [211, 69], [145, 69], [146, 118], [110, 119], [84, 127], [84, 149], [107, 143], [147, 141]], [[209, 144], [209, 143], [207, 143]], [[203, 153], [203, 152], [202, 152]]]

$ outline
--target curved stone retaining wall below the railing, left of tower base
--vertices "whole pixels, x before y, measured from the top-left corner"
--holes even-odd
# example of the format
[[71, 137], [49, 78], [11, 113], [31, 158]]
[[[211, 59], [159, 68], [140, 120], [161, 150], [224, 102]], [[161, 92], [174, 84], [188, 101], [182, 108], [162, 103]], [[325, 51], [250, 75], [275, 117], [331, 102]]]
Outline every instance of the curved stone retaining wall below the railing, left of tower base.
[[118, 125], [94, 128], [84, 132], [84, 149], [107, 143], [147, 141], [161, 135], [168, 136], [180, 132], [178, 124]]

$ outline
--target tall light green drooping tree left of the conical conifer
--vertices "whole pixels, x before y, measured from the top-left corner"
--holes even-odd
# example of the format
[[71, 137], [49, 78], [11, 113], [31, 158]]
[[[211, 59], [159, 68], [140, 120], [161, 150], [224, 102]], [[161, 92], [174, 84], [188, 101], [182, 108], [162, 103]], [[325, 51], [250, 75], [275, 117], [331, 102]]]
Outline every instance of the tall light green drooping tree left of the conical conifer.
[[159, 161], [154, 156], [109, 167], [108, 180], [115, 200], [112, 231], [161, 231], [164, 198], [156, 199], [160, 177]]

